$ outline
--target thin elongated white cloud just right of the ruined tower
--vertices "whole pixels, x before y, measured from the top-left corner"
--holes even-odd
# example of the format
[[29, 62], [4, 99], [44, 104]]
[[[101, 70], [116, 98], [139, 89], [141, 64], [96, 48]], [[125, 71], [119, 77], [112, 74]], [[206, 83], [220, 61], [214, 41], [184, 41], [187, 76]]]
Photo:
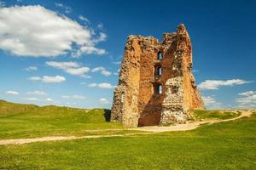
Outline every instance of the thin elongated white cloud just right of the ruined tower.
[[205, 82], [201, 82], [198, 87], [201, 89], [218, 89], [219, 86], [234, 86], [241, 85], [244, 83], [248, 83], [241, 79], [232, 79], [232, 80], [206, 80]]

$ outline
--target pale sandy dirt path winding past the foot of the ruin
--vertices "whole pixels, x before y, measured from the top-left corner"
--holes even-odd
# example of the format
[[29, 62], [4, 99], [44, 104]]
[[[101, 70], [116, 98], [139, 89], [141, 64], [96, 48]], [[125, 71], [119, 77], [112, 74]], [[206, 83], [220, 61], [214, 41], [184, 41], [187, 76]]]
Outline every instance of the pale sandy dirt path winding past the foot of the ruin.
[[[90, 136], [48, 136], [43, 138], [35, 138], [35, 139], [2, 139], [0, 140], [0, 145], [5, 144], [28, 144], [28, 143], [34, 143], [34, 142], [44, 142], [44, 141], [58, 141], [58, 140], [73, 140], [73, 139], [96, 139], [96, 138], [107, 138], [107, 137], [124, 137], [124, 136], [134, 136], [137, 134], [149, 134], [149, 133], [160, 133], [160, 132], [168, 132], [168, 131], [188, 131], [193, 130], [197, 127], [199, 127], [202, 124], [212, 124], [217, 122], [229, 122], [234, 121], [236, 119], [240, 119], [244, 116], [251, 116], [253, 111], [243, 111], [241, 112], [240, 116], [231, 118], [231, 119], [225, 119], [225, 120], [212, 120], [212, 121], [202, 121], [202, 122], [191, 122], [187, 124], [178, 124], [171, 127], [137, 127], [137, 128], [128, 128], [128, 129], [108, 129], [113, 131], [118, 130], [137, 130], [137, 131], [143, 131], [142, 133], [126, 133], [126, 134], [106, 134], [106, 135], [90, 135]], [[93, 131], [101, 131], [101, 130], [91, 130]], [[106, 129], [103, 129], [102, 131], [106, 131]]]

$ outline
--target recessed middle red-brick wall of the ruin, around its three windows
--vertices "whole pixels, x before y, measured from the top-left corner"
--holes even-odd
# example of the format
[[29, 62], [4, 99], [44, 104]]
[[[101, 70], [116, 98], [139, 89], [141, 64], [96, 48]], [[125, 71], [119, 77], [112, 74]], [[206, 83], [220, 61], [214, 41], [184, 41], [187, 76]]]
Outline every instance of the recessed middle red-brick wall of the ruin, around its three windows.
[[[166, 37], [165, 40], [172, 42], [171, 37]], [[163, 94], [166, 91], [165, 82], [172, 77], [172, 53], [174, 50], [170, 50], [171, 42], [163, 46], [161, 42], [158, 42], [155, 38], [151, 38], [144, 37], [141, 42], [143, 54], [140, 60], [139, 126], [160, 124], [162, 103], [164, 100]], [[161, 60], [158, 59], [159, 53], [163, 56]], [[160, 76], [156, 75], [158, 67], [162, 68], [162, 74]], [[155, 92], [157, 85], [162, 85], [162, 94]]]

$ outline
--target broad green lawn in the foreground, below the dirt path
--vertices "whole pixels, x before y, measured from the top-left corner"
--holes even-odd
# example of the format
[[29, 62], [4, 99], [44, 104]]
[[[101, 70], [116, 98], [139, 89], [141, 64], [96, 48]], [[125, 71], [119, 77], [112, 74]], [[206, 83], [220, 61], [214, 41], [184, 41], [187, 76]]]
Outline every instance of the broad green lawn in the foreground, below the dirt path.
[[256, 116], [193, 131], [0, 146], [0, 169], [255, 169]]

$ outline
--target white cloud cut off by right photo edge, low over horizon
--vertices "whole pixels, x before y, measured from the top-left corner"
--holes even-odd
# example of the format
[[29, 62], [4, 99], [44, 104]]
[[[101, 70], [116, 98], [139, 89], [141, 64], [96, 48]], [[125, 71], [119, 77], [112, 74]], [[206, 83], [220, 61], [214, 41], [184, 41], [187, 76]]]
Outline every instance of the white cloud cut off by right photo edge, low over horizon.
[[241, 97], [236, 98], [236, 103], [240, 108], [256, 108], [256, 91], [247, 91], [239, 94]]

